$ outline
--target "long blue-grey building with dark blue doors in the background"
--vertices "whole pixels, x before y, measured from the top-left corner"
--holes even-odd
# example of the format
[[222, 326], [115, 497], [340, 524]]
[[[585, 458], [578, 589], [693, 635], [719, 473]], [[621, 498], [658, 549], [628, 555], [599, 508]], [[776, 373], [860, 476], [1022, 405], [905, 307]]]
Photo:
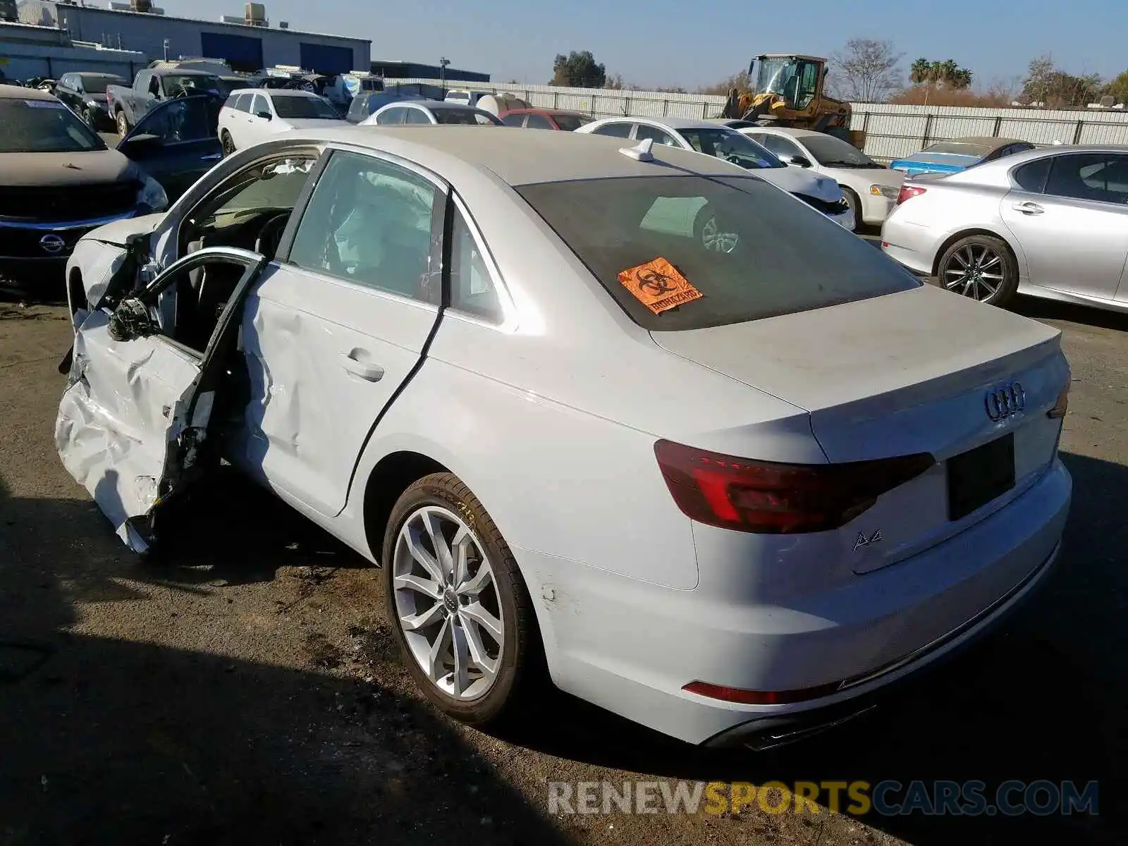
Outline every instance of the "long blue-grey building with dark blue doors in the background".
[[170, 59], [224, 59], [232, 69], [243, 71], [275, 64], [298, 65], [319, 73], [363, 70], [369, 67], [372, 46], [364, 38], [290, 29], [284, 21], [271, 26], [264, 7], [258, 3], [247, 3], [243, 16], [224, 15], [221, 20], [209, 21], [165, 15], [147, 0], [133, 0], [132, 6], [111, 0], [100, 7], [23, 0], [19, 19], [65, 29], [74, 39], [138, 50], [150, 59], [162, 59], [166, 54]]

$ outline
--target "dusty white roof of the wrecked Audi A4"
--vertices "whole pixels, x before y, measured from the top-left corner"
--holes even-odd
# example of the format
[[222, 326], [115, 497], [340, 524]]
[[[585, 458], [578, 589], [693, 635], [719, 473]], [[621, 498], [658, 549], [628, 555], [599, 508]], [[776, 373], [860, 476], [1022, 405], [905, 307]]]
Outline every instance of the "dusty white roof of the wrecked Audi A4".
[[619, 176], [749, 176], [712, 156], [653, 148], [654, 161], [619, 152], [632, 142], [580, 132], [483, 132], [477, 126], [349, 125], [293, 134], [296, 141], [336, 142], [382, 150], [456, 179], [462, 168], [488, 170], [509, 185]]

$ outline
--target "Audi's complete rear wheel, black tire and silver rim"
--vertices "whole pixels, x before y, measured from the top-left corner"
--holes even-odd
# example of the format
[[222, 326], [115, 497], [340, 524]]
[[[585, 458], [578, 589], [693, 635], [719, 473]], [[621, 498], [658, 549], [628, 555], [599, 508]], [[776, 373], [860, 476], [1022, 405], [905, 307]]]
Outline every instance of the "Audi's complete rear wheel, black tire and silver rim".
[[418, 479], [391, 510], [380, 562], [388, 622], [423, 695], [470, 725], [512, 721], [544, 653], [517, 561], [478, 499], [450, 473]]

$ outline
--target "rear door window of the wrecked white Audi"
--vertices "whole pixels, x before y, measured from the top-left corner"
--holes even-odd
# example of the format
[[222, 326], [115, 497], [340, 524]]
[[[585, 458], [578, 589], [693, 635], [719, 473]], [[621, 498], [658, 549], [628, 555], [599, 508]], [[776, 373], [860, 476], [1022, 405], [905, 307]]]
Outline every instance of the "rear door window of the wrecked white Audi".
[[290, 248], [290, 262], [367, 288], [430, 301], [435, 187], [409, 170], [334, 152]]

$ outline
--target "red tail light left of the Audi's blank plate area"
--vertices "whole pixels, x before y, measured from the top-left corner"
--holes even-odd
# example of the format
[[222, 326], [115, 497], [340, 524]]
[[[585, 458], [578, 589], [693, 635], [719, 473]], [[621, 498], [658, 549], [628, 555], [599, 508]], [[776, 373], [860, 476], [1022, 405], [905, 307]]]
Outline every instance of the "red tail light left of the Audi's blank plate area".
[[775, 464], [671, 441], [658, 441], [654, 455], [673, 501], [687, 517], [763, 535], [837, 529], [881, 494], [936, 464], [927, 452], [848, 464]]

